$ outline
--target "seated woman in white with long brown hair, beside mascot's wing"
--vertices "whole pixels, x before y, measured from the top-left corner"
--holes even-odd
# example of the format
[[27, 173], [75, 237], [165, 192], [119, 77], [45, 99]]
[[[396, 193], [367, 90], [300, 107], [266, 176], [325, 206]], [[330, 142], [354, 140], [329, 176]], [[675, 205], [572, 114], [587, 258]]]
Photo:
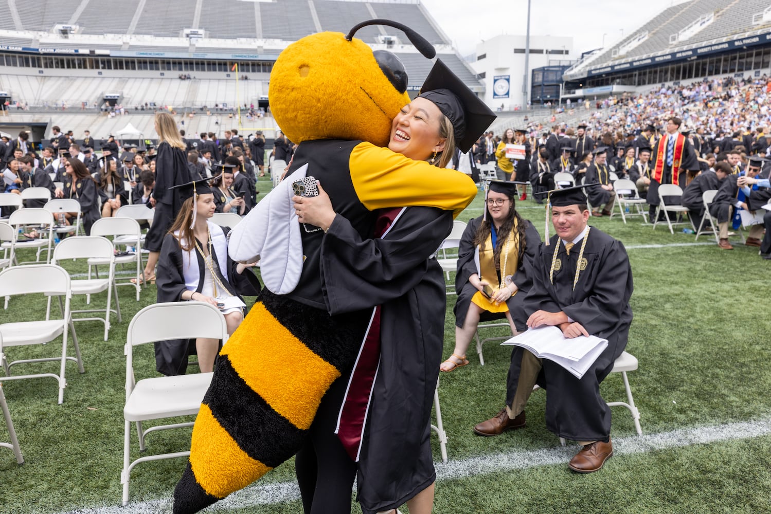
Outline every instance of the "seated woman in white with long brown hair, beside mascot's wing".
[[[234, 263], [227, 255], [230, 229], [209, 221], [214, 215], [214, 194], [208, 179], [176, 186], [185, 199], [169, 232], [163, 237], [158, 260], [158, 303], [203, 301], [221, 309], [227, 333], [244, 320], [241, 294], [256, 296], [261, 286], [247, 265]], [[161, 341], [155, 344], [156, 368], [163, 375], [184, 375], [189, 341]], [[198, 338], [195, 351], [201, 372], [214, 369], [216, 339]]]

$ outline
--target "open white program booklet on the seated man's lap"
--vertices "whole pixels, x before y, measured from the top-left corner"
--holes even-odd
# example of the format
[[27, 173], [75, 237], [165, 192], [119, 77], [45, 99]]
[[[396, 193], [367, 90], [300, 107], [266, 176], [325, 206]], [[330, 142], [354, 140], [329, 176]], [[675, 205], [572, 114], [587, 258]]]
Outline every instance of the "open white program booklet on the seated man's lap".
[[557, 327], [539, 327], [528, 328], [522, 334], [515, 335], [501, 344], [521, 346], [537, 358], [556, 362], [581, 380], [584, 373], [608, 347], [608, 340], [594, 335], [566, 338]]

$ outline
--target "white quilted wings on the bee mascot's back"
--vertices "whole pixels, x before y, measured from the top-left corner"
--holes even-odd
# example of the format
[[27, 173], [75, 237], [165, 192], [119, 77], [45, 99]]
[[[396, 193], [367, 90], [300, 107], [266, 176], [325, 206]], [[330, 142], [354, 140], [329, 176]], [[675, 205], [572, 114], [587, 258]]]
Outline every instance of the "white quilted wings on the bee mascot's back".
[[252, 209], [229, 234], [231, 259], [252, 263], [260, 260], [265, 287], [274, 294], [295, 291], [302, 272], [300, 222], [291, 207], [291, 184], [305, 178], [308, 164], [286, 177]]

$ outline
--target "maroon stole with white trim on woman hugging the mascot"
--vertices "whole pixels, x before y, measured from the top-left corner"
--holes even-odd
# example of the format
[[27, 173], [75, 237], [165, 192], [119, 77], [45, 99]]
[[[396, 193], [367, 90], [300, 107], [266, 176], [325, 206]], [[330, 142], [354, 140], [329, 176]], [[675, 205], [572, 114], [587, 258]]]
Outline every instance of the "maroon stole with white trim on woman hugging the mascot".
[[[403, 209], [382, 210], [375, 222], [375, 237], [383, 237], [399, 217]], [[364, 425], [369, 412], [369, 401], [372, 399], [372, 388], [375, 385], [380, 368], [380, 306], [375, 307], [369, 321], [367, 334], [359, 356], [353, 365], [348, 388], [345, 390], [338, 416], [335, 433], [342, 442], [345, 452], [355, 462], [359, 461], [359, 450], [362, 447]]]

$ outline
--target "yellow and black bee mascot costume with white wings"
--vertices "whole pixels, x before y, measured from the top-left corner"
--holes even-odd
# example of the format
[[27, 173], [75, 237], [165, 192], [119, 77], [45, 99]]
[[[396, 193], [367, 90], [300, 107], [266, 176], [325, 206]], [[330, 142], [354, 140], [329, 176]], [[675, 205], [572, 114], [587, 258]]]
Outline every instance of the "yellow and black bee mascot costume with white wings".
[[396, 55], [372, 52], [353, 38], [373, 24], [401, 29], [423, 55], [435, 55], [404, 25], [370, 20], [348, 35], [309, 35], [275, 62], [271, 111], [299, 143], [294, 173], [231, 231], [231, 256], [244, 262], [259, 255], [265, 288], [217, 358], [173, 512], [197, 512], [295, 455], [319, 402], [352, 367], [368, 331], [371, 309], [328, 313], [319, 277], [324, 232], [301, 228], [288, 184], [307, 170], [364, 238], [374, 232], [373, 210], [426, 206], [457, 215], [476, 195], [463, 173], [384, 147], [392, 119], [410, 100]]

